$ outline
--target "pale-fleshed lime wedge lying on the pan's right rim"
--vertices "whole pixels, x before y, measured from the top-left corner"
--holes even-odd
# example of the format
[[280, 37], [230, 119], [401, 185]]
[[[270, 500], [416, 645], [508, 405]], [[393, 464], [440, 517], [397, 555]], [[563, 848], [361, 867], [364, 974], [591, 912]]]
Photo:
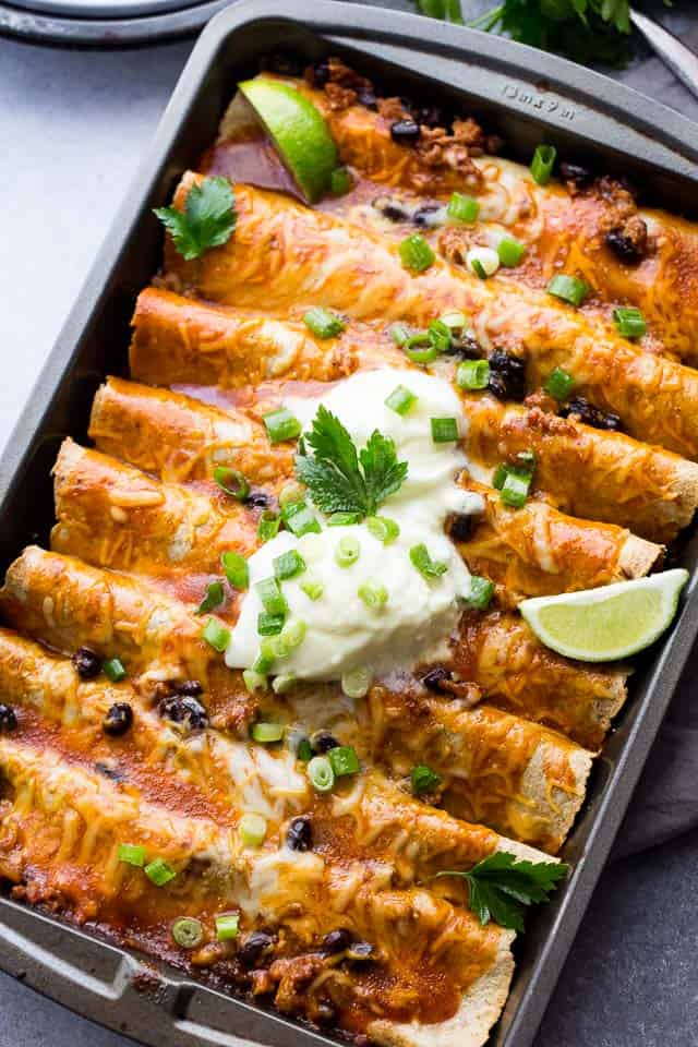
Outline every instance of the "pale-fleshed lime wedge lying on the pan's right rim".
[[669, 628], [686, 570], [664, 570], [601, 589], [525, 600], [519, 610], [545, 645], [582, 662], [610, 662], [649, 647]]

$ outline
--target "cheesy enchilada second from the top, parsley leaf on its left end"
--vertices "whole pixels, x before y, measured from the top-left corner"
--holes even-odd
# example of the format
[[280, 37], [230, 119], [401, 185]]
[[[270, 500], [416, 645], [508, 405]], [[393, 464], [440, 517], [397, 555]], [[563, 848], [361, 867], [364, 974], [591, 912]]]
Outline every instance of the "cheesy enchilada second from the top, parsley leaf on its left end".
[[[177, 207], [198, 177], [184, 176]], [[562, 368], [578, 394], [619, 414], [630, 435], [698, 457], [698, 373], [691, 369], [642, 352], [542, 292], [479, 280], [438, 260], [410, 274], [396, 244], [280, 194], [238, 185], [236, 202], [236, 233], [225, 246], [191, 263], [168, 241], [166, 266], [182, 287], [224, 305], [325, 305], [354, 320], [402, 320], [419, 327], [461, 310], [485, 351], [509, 348], [526, 356], [533, 387]]]

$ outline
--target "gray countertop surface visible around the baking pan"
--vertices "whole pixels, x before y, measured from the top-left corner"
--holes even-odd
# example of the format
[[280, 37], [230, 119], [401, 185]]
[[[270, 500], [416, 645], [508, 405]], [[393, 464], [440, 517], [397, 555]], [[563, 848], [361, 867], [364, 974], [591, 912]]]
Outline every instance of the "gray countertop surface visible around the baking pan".
[[[670, 20], [698, 45], [690, 8], [679, 3]], [[190, 50], [179, 43], [61, 51], [0, 40], [0, 446]], [[655, 59], [623, 79], [698, 120], [698, 101]], [[537, 1047], [698, 1047], [697, 896], [695, 831], [606, 869]], [[4, 975], [0, 1010], [0, 1047], [127, 1045]]]

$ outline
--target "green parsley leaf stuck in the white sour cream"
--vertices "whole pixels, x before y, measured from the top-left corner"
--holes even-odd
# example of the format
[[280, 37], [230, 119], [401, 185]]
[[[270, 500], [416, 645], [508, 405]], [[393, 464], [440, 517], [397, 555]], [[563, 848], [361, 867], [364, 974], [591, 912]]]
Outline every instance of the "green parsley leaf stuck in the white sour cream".
[[[310, 445], [314, 455], [306, 453]], [[374, 516], [402, 485], [407, 462], [397, 460], [395, 443], [375, 430], [360, 452], [339, 419], [321, 405], [311, 431], [299, 444], [296, 471], [323, 513]]]

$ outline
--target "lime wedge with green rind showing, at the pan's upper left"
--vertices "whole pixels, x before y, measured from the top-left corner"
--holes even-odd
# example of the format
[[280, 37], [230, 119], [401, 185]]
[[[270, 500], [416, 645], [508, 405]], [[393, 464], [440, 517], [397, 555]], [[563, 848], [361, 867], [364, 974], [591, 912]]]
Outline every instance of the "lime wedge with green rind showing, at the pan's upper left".
[[274, 140], [303, 196], [314, 203], [329, 188], [332, 173], [339, 165], [322, 113], [294, 87], [275, 80], [246, 80], [240, 91]]

